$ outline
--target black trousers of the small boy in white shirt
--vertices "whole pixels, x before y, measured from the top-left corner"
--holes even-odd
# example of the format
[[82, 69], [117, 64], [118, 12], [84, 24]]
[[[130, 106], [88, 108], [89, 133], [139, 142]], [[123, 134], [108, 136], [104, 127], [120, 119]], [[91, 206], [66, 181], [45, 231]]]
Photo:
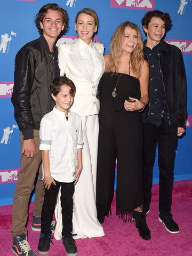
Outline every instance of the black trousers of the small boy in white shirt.
[[56, 185], [53, 183], [50, 189], [45, 189], [44, 203], [42, 209], [42, 225], [41, 233], [51, 234], [51, 221], [53, 210], [57, 201], [59, 188], [61, 187], [61, 208], [62, 208], [62, 236], [69, 236], [72, 232], [72, 217], [73, 217], [73, 194], [74, 182], [65, 183], [55, 180]]

